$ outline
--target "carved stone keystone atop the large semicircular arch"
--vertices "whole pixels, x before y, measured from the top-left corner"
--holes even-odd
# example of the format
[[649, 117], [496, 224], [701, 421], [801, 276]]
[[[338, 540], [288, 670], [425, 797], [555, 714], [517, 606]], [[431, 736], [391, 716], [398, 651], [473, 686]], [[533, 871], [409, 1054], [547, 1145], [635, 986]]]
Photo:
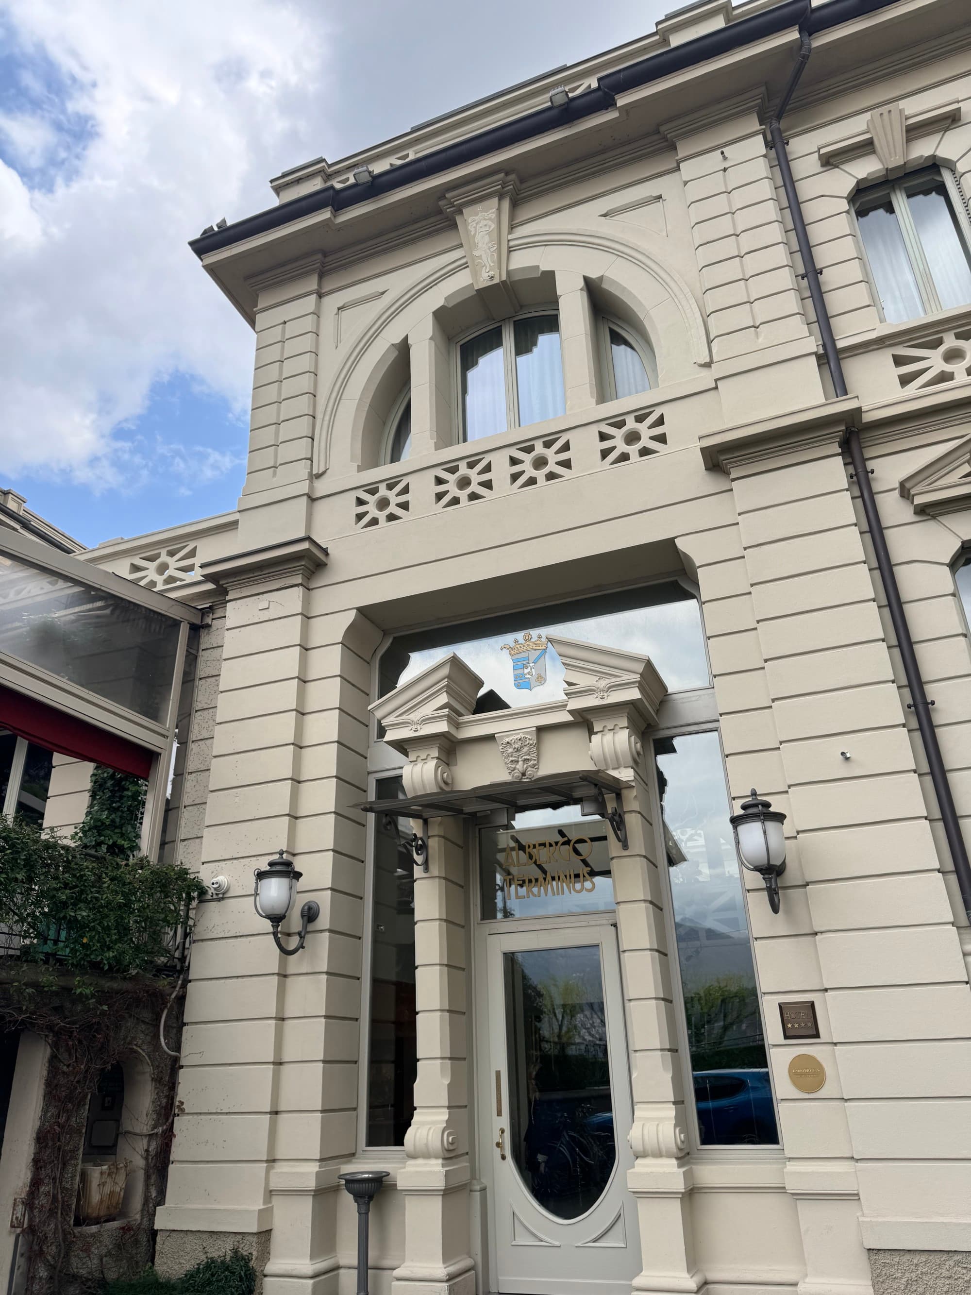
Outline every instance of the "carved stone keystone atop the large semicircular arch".
[[452, 189], [441, 202], [445, 215], [458, 223], [473, 287], [493, 319], [506, 319], [519, 310], [508, 277], [509, 227], [517, 192], [515, 176], [500, 171]]

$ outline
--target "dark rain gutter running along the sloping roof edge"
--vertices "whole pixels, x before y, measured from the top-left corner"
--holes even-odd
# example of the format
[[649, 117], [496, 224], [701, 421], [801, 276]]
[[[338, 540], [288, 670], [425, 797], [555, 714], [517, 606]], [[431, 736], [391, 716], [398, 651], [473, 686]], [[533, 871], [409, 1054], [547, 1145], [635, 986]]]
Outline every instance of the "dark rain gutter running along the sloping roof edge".
[[[805, 30], [810, 32], [826, 31], [842, 22], [849, 22], [896, 3], [897, 0], [829, 0], [827, 4], [813, 10], [807, 19]], [[313, 193], [304, 193], [299, 198], [281, 202], [267, 211], [259, 211], [255, 216], [236, 220], [223, 229], [201, 234], [198, 238], [190, 240], [189, 246], [197, 256], [202, 258], [210, 253], [220, 251], [223, 247], [232, 247], [233, 243], [242, 242], [245, 238], [254, 238], [256, 234], [280, 229], [294, 220], [303, 220], [317, 211], [328, 208], [346, 211], [348, 207], [356, 207], [372, 198], [403, 189], [417, 180], [426, 180], [454, 167], [465, 166], [467, 162], [476, 162], [491, 153], [498, 153], [550, 131], [562, 130], [574, 122], [614, 107], [618, 95], [649, 85], [663, 76], [671, 76], [673, 73], [694, 67], [709, 58], [717, 58], [733, 49], [794, 27], [804, 12], [805, 0], [783, 0], [782, 4], [765, 9], [763, 13], [730, 22], [726, 27], [704, 32], [694, 40], [675, 45], [673, 49], [662, 49], [656, 54], [649, 54], [647, 58], [628, 63], [627, 67], [605, 73], [594, 87], [574, 95], [563, 107], [541, 107], [524, 117], [514, 118], [511, 122], [502, 122], [487, 131], [479, 131], [478, 135], [470, 135], [454, 144], [447, 144], [444, 148], [434, 149], [431, 153], [425, 153], [409, 162], [403, 162], [400, 166], [382, 171], [365, 184], [350, 184], [340, 189], [326, 185], [324, 189], [315, 189]]]

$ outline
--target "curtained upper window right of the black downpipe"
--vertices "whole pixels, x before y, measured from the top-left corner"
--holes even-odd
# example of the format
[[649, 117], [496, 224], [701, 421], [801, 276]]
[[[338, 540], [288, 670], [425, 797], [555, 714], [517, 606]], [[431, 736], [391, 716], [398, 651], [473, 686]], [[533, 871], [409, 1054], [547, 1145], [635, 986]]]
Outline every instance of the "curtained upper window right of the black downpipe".
[[866, 189], [854, 210], [886, 320], [971, 302], [967, 218], [948, 172], [921, 171]]

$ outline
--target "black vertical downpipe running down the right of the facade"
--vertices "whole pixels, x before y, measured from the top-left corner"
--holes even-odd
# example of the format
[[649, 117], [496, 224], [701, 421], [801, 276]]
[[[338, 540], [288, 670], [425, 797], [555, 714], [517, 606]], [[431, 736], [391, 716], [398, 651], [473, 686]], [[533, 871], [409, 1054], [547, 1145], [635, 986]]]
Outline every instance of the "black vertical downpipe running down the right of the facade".
[[[829, 8], [829, 5], [826, 8]], [[782, 188], [786, 193], [788, 211], [792, 216], [792, 228], [796, 236], [796, 245], [799, 246], [799, 255], [803, 260], [803, 269], [805, 272], [807, 286], [809, 287], [809, 297], [812, 298], [813, 310], [816, 311], [816, 322], [818, 324], [820, 338], [822, 341], [822, 354], [826, 360], [826, 366], [830, 370], [832, 390], [836, 399], [842, 399], [848, 394], [847, 379], [843, 373], [843, 364], [839, 357], [836, 338], [832, 334], [832, 324], [830, 322], [830, 313], [826, 308], [826, 298], [823, 297], [822, 286], [820, 285], [820, 271], [816, 267], [816, 258], [813, 256], [812, 243], [809, 242], [809, 234], [805, 228], [803, 207], [799, 202], [795, 180], [792, 179], [792, 167], [788, 161], [786, 140], [782, 135], [782, 126], [779, 124], [782, 114], [788, 107], [790, 100], [792, 98], [795, 88], [799, 84], [799, 79], [805, 70], [805, 65], [809, 62], [809, 56], [813, 48], [813, 30], [818, 30], [818, 27], [814, 28], [812, 26], [810, 16], [810, 21], [800, 26], [801, 43], [799, 58], [796, 60], [796, 66], [792, 70], [786, 91], [779, 100], [779, 105], [769, 120], [769, 137], [772, 139], [772, 146], [776, 152], [776, 161], [779, 167], [779, 175], [782, 176]], [[866, 465], [866, 456], [864, 455], [864, 447], [860, 440], [860, 429], [852, 425], [848, 426], [843, 444], [849, 452], [849, 460], [853, 465], [853, 477], [856, 477], [856, 483], [860, 487], [860, 500], [864, 505], [864, 514], [870, 531], [870, 540], [876, 556], [876, 569], [880, 572], [880, 580], [883, 581], [883, 592], [887, 594], [887, 607], [889, 610], [893, 633], [897, 636], [897, 648], [900, 649], [900, 658], [904, 666], [904, 677], [906, 679], [906, 685], [910, 689], [909, 704], [917, 716], [917, 726], [921, 732], [924, 755], [927, 756], [927, 768], [931, 773], [933, 794], [937, 796], [937, 805], [941, 812], [944, 835], [948, 838], [948, 848], [954, 862], [954, 874], [958, 879], [961, 900], [965, 905], [965, 912], [968, 918], [971, 918], [971, 862], [968, 862], [967, 847], [965, 844], [965, 837], [961, 831], [958, 812], [954, 807], [954, 796], [950, 790], [950, 780], [948, 778], [948, 771], [944, 764], [944, 756], [941, 755], [940, 742], [937, 741], [937, 732], [933, 726], [933, 719], [931, 717], [931, 707], [933, 706], [933, 702], [927, 701], [927, 690], [924, 689], [921, 666], [917, 659], [917, 653], [914, 651], [914, 640], [910, 636], [910, 625], [908, 624], [906, 611], [904, 610], [904, 601], [900, 597], [897, 576], [893, 571], [889, 549], [887, 548], [887, 536], [883, 531], [880, 513], [876, 508], [876, 497], [874, 496], [873, 483], [870, 482], [870, 469]]]

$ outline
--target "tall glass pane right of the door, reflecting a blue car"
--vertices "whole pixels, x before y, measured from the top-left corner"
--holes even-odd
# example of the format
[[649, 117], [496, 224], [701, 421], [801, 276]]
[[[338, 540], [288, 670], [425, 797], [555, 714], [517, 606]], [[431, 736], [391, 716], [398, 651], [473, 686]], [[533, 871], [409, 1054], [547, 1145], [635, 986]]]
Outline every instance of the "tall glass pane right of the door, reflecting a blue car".
[[719, 736], [654, 750], [700, 1141], [778, 1142]]

